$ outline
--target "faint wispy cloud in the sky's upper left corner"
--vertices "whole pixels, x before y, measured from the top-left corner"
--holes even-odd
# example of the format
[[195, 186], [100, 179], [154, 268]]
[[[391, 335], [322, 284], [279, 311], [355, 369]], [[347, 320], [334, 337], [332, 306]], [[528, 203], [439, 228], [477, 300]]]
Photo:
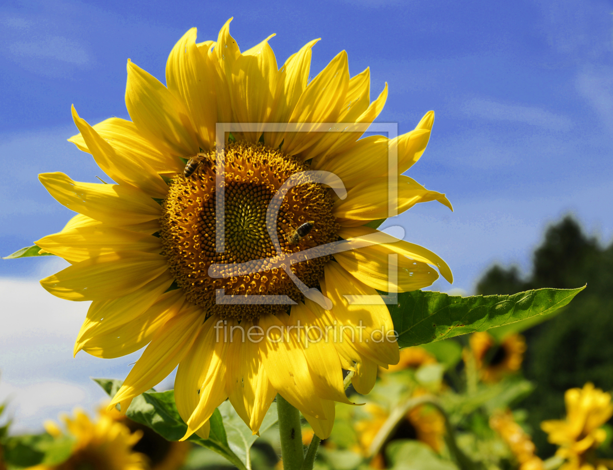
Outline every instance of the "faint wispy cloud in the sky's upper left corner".
[[18, 57], [50, 58], [74, 65], [87, 65], [91, 61], [89, 54], [78, 42], [61, 36], [13, 42], [8, 50]]

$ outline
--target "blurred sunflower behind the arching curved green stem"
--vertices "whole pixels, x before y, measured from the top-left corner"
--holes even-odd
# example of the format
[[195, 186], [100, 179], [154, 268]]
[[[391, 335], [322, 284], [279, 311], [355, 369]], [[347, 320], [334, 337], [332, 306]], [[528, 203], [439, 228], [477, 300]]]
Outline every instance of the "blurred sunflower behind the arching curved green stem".
[[[370, 445], [387, 421], [389, 412], [375, 403], [367, 403], [365, 411], [370, 414], [371, 418], [357, 422], [356, 432], [362, 452], [368, 456]], [[386, 441], [381, 446], [381, 451], [371, 459], [371, 466], [386, 468], [385, 449], [389, 442], [397, 439], [421, 441], [430, 446], [435, 452], [441, 452], [444, 434], [445, 423], [438, 411], [427, 405], [415, 406], [406, 412], [405, 416], [395, 426], [394, 431], [387, 436]]]

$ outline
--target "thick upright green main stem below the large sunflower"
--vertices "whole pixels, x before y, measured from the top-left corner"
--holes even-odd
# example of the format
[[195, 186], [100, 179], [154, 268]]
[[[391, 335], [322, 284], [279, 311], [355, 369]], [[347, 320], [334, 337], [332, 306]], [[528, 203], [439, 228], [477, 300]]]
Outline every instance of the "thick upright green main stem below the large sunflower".
[[[300, 412], [287, 403], [287, 400], [279, 394], [276, 395], [276, 409], [279, 414], [279, 436], [281, 438], [283, 470], [300, 470], [305, 461], [302, 446], [302, 429], [300, 428]], [[314, 436], [313, 439], [315, 439]]]

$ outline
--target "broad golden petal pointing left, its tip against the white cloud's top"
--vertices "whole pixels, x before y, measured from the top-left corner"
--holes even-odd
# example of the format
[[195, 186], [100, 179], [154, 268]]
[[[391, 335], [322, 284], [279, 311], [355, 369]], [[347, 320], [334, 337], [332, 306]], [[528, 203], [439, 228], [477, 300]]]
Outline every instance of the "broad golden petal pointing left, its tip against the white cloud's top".
[[166, 257], [118, 252], [73, 264], [40, 281], [48, 292], [66, 300], [105, 300], [125, 296], [168, 269]]

